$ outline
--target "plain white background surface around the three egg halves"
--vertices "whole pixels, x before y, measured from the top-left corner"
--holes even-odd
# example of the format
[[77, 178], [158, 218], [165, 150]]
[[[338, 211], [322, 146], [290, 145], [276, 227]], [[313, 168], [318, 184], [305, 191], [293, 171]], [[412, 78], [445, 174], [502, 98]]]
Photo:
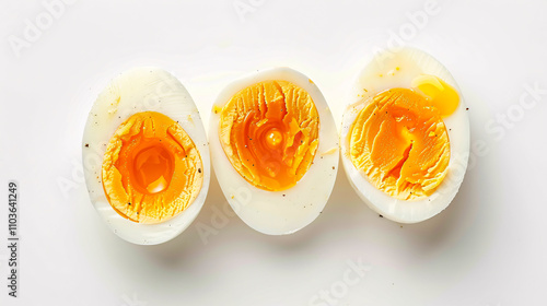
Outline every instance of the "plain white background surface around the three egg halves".
[[[421, 0], [164, 2], [81, 0], [48, 25], [42, 1], [1, 1], [0, 305], [327, 305], [313, 298], [333, 285], [337, 305], [546, 305], [547, 95], [519, 106], [526, 84], [547, 89], [546, 2], [439, 1], [419, 26], [410, 22]], [[234, 7], [245, 4], [246, 13]], [[42, 33], [14, 48], [36, 17]], [[319, 86], [339, 123], [354, 76], [395, 34], [453, 73], [481, 145], [440, 215], [403, 226], [381, 219], [341, 169], [323, 214], [290, 236], [235, 216], [205, 244], [197, 222], [211, 225], [213, 208], [225, 207], [214, 178], [196, 222], [160, 246], [121, 240], [95, 213], [81, 138], [117, 73], [171, 71], [207, 127], [234, 78], [289, 66]], [[503, 134], [487, 129], [508, 113]], [[21, 192], [16, 299], [5, 286], [9, 179]], [[348, 261], [359, 260], [370, 271], [344, 285]]]

